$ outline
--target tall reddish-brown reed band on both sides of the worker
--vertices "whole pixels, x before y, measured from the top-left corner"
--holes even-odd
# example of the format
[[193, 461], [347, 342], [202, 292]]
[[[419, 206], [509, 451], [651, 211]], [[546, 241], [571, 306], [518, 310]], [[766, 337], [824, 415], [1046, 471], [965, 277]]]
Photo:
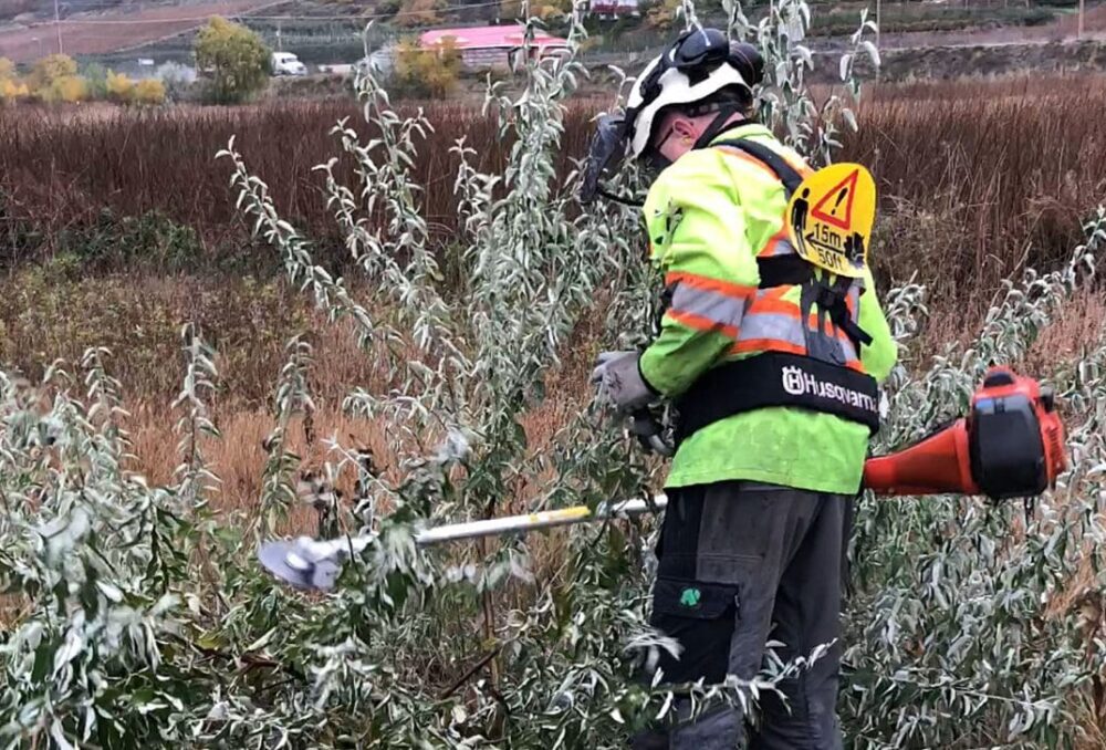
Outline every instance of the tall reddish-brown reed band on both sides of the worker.
[[[596, 108], [580, 102], [567, 118], [562, 174], [584, 153]], [[435, 132], [416, 177], [431, 229], [448, 247], [456, 226], [449, 148], [465, 137], [479, 149], [477, 166], [494, 170], [505, 144], [471, 105], [427, 110]], [[64, 229], [94, 221], [105, 207], [118, 216], [164, 211], [196, 228], [212, 254], [243, 244], [247, 228], [212, 159], [232, 134], [282, 212], [333, 239], [310, 168], [333, 153], [327, 129], [355, 115], [345, 101], [93, 115], [0, 110], [0, 237], [25, 238], [28, 226], [39, 233], [33, 243], [9, 239], [2, 260], [49, 253]], [[1106, 194], [1102, 76], [881, 85], [859, 119], [842, 156], [868, 165], [878, 180], [886, 275], [918, 271], [954, 294], [993, 289], [1025, 262], [1047, 268], [1063, 259], [1079, 239], [1079, 218]]]

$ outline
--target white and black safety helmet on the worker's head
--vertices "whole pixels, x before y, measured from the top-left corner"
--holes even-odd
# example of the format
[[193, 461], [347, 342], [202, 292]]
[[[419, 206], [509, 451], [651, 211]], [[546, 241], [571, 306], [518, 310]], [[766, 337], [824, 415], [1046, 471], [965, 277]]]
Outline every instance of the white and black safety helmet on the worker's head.
[[634, 83], [626, 102], [627, 153], [638, 158], [649, 144], [657, 114], [675, 104], [691, 105], [723, 88], [751, 94], [763, 61], [751, 44], [731, 43], [718, 29], [692, 29], [653, 60]]

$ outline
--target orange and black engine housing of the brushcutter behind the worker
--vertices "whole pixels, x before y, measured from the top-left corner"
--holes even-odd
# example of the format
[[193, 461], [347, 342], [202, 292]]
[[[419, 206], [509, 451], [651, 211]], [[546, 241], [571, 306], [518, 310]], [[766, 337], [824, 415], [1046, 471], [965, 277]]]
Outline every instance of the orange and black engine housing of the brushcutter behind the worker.
[[1064, 425], [1050, 388], [992, 367], [971, 413], [900, 451], [868, 459], [864, 487], [877, 494], [1032, 497], [1067, 468]]

